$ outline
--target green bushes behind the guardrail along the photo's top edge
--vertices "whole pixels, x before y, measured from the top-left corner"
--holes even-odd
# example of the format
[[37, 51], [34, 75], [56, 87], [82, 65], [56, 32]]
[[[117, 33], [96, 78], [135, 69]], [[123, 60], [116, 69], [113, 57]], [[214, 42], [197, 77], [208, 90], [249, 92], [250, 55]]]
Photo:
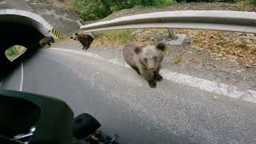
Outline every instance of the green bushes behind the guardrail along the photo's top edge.
[[72, 0], [74, 10], [85, 21], [106, 18], [118, 10], [130, 9], [134, 6], [162, 7], [176, 2], [240, 2], [244, 7], [256, 6], [256, 0]]

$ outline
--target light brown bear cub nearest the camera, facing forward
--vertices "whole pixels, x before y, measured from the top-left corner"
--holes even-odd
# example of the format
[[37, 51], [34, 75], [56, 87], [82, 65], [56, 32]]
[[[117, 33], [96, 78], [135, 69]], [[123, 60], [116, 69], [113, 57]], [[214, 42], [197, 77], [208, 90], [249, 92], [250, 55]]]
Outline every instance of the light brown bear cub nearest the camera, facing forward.
[[145, 78], [151, 88], [154, 88], [157, 86], [156, 82], [162, 81], [159, 70], [164, 58], [164, 50], [166, 50], [164, 42], [159, 42], [157, 46], [140, 46], [130, 42], [123, 48], [122, 55], [126, 63]]

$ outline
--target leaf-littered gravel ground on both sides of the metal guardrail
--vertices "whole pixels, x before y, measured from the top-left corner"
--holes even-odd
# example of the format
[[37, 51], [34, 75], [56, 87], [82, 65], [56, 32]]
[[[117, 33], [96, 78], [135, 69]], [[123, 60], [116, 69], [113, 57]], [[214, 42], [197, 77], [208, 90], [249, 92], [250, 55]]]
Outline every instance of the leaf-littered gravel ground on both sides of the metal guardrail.
[[[140, 7], [120, 10], [100, 21], [132, 14], [144, 14], [170, 10], [238, 10], [254, 11], [242, 3], [177, 3], [166, 7]], [[88, 22], [86, 22], [88, 23]], [[176, 34], [187, 34], [183, 46], [168, 46], [164, 65], [183, 74], [223, 82], [244, 89], [256, 90], [256, 37], [254, 34], [222, 32], [215, 30], [174, 30]], [[114, 30], [97, 32], [89, 51], [110, 50], [114, 54], [122, 50], [127, 42], [154, 45], [167, 40], [164, 29]], [[57, 42], [54, 47], [80, 49], [70, 35]], [[121, 53], [120, 53], [121, 54]]]

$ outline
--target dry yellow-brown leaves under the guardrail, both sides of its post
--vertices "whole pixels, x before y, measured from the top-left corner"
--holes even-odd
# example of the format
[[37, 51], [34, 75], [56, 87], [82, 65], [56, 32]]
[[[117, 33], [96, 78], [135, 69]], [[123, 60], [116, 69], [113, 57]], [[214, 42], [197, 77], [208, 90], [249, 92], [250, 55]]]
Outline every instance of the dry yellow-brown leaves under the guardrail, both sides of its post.
[[[134, 31], [139, 31], [140, 33], [137, 36], [132, 36]], [[188, 34], [192, 39], [192, 46], [198, 51], [209, 52], [214, 57], [214, 60], [242, 62], [242, 65], [247, 68], [256, 67], [256, 36], [254, 34], [184, 29], [177, 29], [175, 33]], [[122, 47], [126, 42], [130, 41], [155, 45], [157, 41], [152, 38], [152, 35], [159, 37], [158, 35], [161, 34], [167, 34], [167, 30], [114, 30], [99, 33], [93, 45], [95, 47]], [[170, 53], [166, 52], [165, 54], [169, 55]]]

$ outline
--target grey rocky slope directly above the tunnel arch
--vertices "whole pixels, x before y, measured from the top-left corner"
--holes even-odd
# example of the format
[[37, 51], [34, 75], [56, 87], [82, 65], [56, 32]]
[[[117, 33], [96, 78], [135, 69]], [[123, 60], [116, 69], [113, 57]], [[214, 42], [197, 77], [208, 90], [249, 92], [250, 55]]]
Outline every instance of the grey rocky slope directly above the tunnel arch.
[[78, 30], [82, 21], [67, 3], [70, 0], [0, 0], [0, 9], [26, 10], [40, 15], [61, 34]]

